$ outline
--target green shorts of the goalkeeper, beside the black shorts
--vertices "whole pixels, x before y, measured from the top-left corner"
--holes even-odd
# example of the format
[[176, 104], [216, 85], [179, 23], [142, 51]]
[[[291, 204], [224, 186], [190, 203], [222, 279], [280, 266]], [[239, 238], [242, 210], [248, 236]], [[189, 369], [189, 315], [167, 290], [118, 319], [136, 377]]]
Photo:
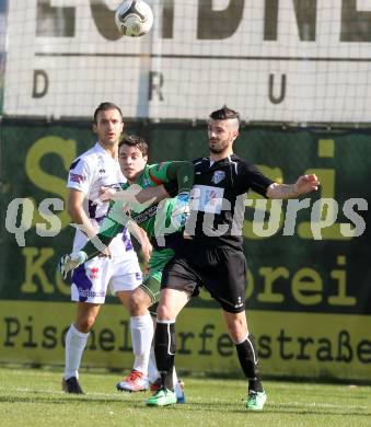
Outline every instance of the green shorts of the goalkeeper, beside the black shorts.
[[[171, 249], [152, 252], [148, 263], [150, 269], [143, 277], [143, 282], [140, 285], [140, 288], [150, 297], [152, 304], [160, 300], [162, 270], [173, 256], [174, 251]], [[152, 311], [153, 305], [151, 305]]]

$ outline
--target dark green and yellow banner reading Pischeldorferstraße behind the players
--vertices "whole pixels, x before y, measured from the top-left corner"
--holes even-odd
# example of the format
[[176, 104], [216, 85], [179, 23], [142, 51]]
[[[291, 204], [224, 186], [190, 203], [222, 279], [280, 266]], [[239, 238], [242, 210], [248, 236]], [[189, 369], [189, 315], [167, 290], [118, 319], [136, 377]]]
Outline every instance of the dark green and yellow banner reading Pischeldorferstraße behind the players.
[[[31, 123], [3, 129], [0, 231], [0, 361], [63, 362], [73, 321], [69, 284], [57, 272], [71, 251], [66, 214], [70, 163], [94, 142], [90, 127]], [[151, 126], [150, 161], [195, 159], [206, 129]], [[244, 218], [247, 320], [264, 372], [364, 378], [371, 369], [370, 136], [242, 129], [235, 152], [277, 182], [316, 173], [316, 194], [269, 201], [248, 194]], [[218, 304], [207, 292], [182, 312], [178, 368], [234, 372], [237, 359]], [[130, 367], [128, 316], [113, 297], [89, 342], [86, 363]]]

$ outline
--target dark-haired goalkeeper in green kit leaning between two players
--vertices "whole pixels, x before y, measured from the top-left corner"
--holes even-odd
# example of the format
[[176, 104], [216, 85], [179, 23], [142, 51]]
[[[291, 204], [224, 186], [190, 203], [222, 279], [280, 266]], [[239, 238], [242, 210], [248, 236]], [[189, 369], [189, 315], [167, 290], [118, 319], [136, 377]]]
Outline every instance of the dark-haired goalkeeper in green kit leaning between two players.
[[[98, 234], [79, 253], [65, 256], [62, 269], [67, 274], [80, 263], [96, 256], [121, 231], [123, 227], [128, 224], [128, 221], [135, 221], [147, 232], [153, 252], [149, 259], [149, 272], [142, 285], [130, 298], [132, 322], [148, 319], [148, 308], [153, 307], [160, 297], [162, 269], [173, 257], [177, 242], [183, 239], [188, 197], [194, 182], [194, 165], [185, 161], [148, 165], [148, 146], [143, 139], [136, 136], [123, 139], [118, 155], [123, 174], [128, 180], [123, 184], [125, 192], [112, 193], [107, 189], [102, 195], [101, 200], [113, 198], [116, 201], [112, 203]], [[144, 188], [146, 192], [140, 192]], [[169, 195], [174, 197], [169, 198]], [[129, 210], [125, 208], [125, 203], [123, 206], [123, 201], [131, 201]], [[132, 204], [132, 201], [138, 203]], [[149, 341], [146, 342], [148, 344]], [[136, 359], [148, 357], [150, 345], [151, 342], [146, 349], [134, 349]], [[140, 361], [141, 363], [135, 363], [131, 373], [117, 384], [118, 390], [139, 391], [148, 388], [146, 372], [136, 369], [136, 365], [143, 365], [142, 360]], [[176, 382], [175, 380], [174, 383]], [[177, 390], [177, 400], [182, 402], [184, 394], [179, 386]]]

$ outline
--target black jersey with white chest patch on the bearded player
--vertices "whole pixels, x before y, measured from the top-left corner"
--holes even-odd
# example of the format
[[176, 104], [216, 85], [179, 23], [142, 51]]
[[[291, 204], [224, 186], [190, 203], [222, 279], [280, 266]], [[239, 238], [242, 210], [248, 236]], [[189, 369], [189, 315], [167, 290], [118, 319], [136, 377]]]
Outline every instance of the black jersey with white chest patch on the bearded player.
[[188, 233], [201, 244], [241, 247], [246, 193], [251, 188], [265, 197], [274, 182], [234, 154], [212, 164], [197, 159], [194, 165]]

